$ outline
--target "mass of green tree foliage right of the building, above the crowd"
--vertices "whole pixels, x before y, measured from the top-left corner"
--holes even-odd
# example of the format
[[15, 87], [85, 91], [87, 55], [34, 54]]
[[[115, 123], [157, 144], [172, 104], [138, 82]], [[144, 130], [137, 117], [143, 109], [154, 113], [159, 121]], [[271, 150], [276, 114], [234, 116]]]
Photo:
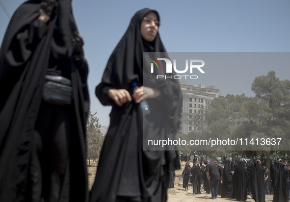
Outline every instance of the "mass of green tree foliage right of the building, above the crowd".
[[[215, 98], [207, 108], [195, 115], [189, 122], [197, 130], [189, 139], [235, 139], [237, 138], [282, 138], [290, 136], [290, 81], [276, 78], [271, 71], [267, 76], [258, 76], [252, 84], [256, 97], [227, 95]], [[281, 141], [280, 146], [269, 150], [285, 150], [289, 141]], [[285, 148], [285, 149], [284, 149]], [[202, 148], [196, 148], [201, 150]], [[209, 148], [208, 148], [209, 149]], [[247, 147], [235, 148], [248, 150]], [[250, 150], [263, 150], [252, 147]], [[217, 150], [233, 150], [221, 147]]]

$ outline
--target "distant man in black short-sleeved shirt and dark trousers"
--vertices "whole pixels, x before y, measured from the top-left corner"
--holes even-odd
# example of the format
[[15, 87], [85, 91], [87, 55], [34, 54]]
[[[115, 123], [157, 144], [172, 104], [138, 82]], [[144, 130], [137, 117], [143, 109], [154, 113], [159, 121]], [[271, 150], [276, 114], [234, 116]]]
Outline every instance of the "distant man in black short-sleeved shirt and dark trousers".
[[217, 198], [217, 187], [220, 179], [220, 174], [215, 164], [208, 164], [206, 161], [205, 164], [207, 165], [207, 177], [211, 187], [211, 199], [215, 199]]

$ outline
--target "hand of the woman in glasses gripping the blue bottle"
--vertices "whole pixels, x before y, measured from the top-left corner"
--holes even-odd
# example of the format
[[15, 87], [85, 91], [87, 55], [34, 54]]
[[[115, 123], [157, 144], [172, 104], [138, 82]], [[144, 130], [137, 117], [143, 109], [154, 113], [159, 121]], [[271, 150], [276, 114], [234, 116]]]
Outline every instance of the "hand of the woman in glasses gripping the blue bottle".
[[136, 103], [140, 103], [141, 101], [146, 99], [157, 98], [159, 95], [160, 91], [154, 88], [140, 86], [133, 92], [133, 99]]

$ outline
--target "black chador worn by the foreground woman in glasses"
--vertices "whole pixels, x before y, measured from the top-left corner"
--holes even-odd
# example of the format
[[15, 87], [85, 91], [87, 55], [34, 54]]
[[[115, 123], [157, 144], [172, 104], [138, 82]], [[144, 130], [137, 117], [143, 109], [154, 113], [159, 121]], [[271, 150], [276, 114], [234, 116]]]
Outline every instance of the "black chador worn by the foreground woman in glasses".
[[[167, 175], [167, 171], [180, 168], [177, 151], [142, 151], [142, 125], [143, 128], [150, 129], [150, 134], [156, 137], [174, 137], [179, 127], [181, 112], [182, 96], [179, 83], [161, 81], [160, 85], [156, 85], [157, 81], [150, 77], [150, 82], [147, 83], [151, 85], [155, 82], [152, 86], [156, 87], [161, 95], [154, 102], [148, 99], [152, 113], [145, 119], [139, 104], [131, 101], [119, 107], [107, 95], [109, 89], [126, 89], [132, 95], [132, 82], [136, 82], [138, 86], [146, 86], [143, 82], [143, 52], [165, 51], [158, 33], [151, 43], [144, 41], [141, 36], [140, 25], [149, 12], [156, 13], [160, 20], [157, 11], [149, 8], [135, 13], [127, 31], [109, 57], [101, 83], [96, 87], [96, 96], [102, 104], [112, 105], [112, 111], [91, 191], [92, 202], [115, 201], [120, 195], [150, 197], [156, 193], [160, 180]], [[165, 99], [168, 100], [163, 103]], [[169, 106], [169, 114], [158, 113], [166, 111]], [[151, 116], [161, 117], [158, 122], [153, 123], [153, 127], [150, 122]], [[143, 122], [146, 120], [145, 125], [151, 126], [144, 126], [142, 119]], [[165, 125], [165, 121], [170, 121], [171, 124]], [[159, 132], [159, 129], [162, 131]], [[108, 161], [107, 158], [111, 160]]]

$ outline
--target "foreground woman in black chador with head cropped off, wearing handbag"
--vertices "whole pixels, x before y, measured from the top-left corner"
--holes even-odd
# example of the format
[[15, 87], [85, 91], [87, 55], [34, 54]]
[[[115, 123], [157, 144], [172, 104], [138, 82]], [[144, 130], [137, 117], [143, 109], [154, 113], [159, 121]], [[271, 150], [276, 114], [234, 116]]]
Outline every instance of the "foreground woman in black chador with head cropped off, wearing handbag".
[[[27, 0], [11, 18], [0, 49], [1, 202], [88, 201], [82, 45], [71, 0]], [[71, 80], [66, 104], [44, 101], [46, 75]]]

